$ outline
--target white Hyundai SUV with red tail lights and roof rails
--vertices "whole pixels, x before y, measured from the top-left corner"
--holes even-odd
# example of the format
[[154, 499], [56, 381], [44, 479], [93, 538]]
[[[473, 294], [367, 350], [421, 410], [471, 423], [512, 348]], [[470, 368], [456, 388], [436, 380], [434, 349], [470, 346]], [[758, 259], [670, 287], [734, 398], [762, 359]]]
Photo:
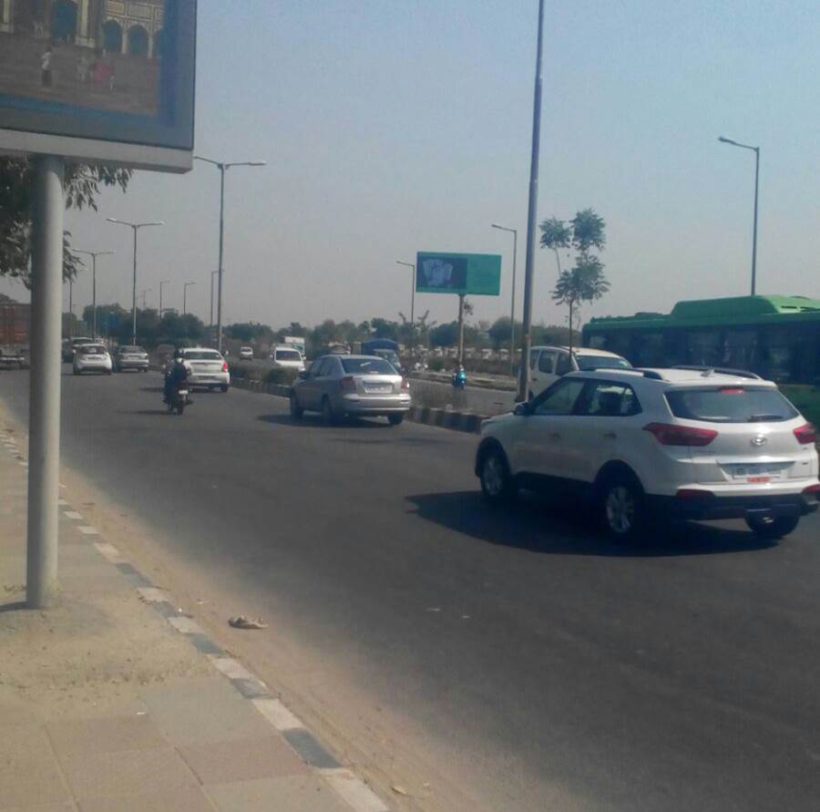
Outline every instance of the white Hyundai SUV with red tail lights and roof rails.
[[817, 509], [815, 427], [770, 381], [702, 367], [569, 373], [481, 427], [492, 501], [519, 488], [587, 499], [610, 534], [648, 519], [745, 519], [778, 539]]

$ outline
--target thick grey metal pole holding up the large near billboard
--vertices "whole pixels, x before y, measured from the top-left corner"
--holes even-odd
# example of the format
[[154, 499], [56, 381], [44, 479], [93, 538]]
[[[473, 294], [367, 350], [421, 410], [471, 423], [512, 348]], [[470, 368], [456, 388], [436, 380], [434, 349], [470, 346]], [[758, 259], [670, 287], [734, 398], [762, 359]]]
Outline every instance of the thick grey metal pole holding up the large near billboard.
[[28, 413], [26, 602], [42, 609], [57, 597], [60, 468], [60, 335], [63, 298], [63, 159], [35, 159]]

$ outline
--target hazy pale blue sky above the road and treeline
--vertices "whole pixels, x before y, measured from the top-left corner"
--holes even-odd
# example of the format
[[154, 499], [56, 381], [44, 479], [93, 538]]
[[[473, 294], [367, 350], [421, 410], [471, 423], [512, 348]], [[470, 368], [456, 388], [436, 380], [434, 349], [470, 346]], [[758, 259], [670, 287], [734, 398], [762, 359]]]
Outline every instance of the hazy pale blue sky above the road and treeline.
[[[224, 318], [273, 325], [409, 314], [416, 251], [502, 253], [509, 312], [512, 237], [522, 290], [536, 0], [200, 0], [197, 152], [266, 159], [228, 173]], [[548, 2], [538, 216], [591, 206], [607, 221], [611, 292], [584, 315], [666, 310], [748, 292], [753, 153], [760, 145], [759, 293], [820, 297], [820, 15], [816, 0]], [[98, 214], [69, 213], [100, 261], [100, 302], [138, 288], [206, 321], [217, 265], [219, 174], [135, 176]], [[534, 317], [551, 253], [536, 256]], [[0, 290], [21, 295], [19, 285]], [[90, 273], [75, 303], [90, 300]], [[520, 296], [517, 309], [520, 313]], [[456, 315], [420, 294], [416, 313]]]

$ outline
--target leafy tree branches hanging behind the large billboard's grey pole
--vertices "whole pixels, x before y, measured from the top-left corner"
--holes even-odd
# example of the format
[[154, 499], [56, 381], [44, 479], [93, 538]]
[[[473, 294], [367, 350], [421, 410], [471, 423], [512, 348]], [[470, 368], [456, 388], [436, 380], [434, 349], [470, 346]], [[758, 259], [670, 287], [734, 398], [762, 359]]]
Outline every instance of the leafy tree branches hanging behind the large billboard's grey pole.
[[[66, 208], [97, 211], [100, 189], [125, 191], [131, 170], [71, 165], [66, 167]], [[35, 168], [28, 159], [0, 158], [0, 276], [20, 279], [30, 287], [32, 212]], [[71, 234], [63, 233], [63, 278], [73, 279], [84, 267], [71, 252]]]

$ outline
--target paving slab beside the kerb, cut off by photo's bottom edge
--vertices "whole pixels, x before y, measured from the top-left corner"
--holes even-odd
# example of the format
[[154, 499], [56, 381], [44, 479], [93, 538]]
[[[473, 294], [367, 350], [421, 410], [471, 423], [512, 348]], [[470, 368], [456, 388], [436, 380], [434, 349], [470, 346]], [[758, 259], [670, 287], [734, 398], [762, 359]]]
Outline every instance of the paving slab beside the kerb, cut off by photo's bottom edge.
[[205, 792], [220, 812], [351, 812], [317, 776], [259, 778], [213, 784]]

